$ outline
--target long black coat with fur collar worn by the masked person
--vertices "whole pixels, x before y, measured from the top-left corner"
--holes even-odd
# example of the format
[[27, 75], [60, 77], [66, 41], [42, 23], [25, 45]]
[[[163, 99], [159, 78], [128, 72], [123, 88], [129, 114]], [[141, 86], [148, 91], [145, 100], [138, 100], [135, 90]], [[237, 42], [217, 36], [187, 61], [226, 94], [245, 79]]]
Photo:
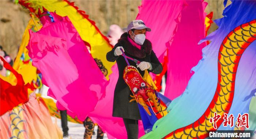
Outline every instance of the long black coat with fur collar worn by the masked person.
[[[140, 120], [141, 118], [140, 118], [138, 104], [133, 99], [132, 97], [133, 94], [129, 86], [125, 83], [123, 79], [123, 72], [124, 72], [124, 68], [127, 66], [127, 63], [125, 62], [125, 59], [122, 55], [115, 56], [114, 50], [118, 46], [123, 46], [125, 55], [135, 58], [141, 62], [142, 61], [150, 62], [153, 69], [148, 70], [148, 72], [159, 74], [162, 72], [163, 67], [159, 62], [157, 56], [155, 55], [154, 51], [152, 50], [152, 45], [149, 40], [147, 39], [145, 40], [140, 50], [137, 47], [133, 46], [128, 41], [127, 36], [128, 34], [126, 32], [123, 35], [121, 35], [121, 38], [118, 40], [118, 43], [106, 55], [106, 58], [108, 61], [110, 62], [116, 61], [117, 67], [118, 67], [118, 73], [119, 73], [116, 88], [114, 90], [113, 116]], [[130, 63], [130, 65], [137, 67], [135, 62], [129, 59], [128, 59], [128, 62]], [[138, 70], [143, 77], [144, 71], [141, 71], [139, 68]], [[130, 100], [132, 99], [134, 101], [130, 102]]]

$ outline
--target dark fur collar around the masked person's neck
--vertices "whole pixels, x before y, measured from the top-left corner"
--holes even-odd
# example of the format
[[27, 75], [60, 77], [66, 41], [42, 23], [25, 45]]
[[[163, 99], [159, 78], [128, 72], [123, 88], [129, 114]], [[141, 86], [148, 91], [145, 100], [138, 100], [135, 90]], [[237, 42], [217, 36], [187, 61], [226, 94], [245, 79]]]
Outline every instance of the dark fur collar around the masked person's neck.
[[151, 53], [152, 45], [151, 42], [146, 39], [145, 42], [142, 45], [141, 50], [137, 47], [133, 46], [129, 40], [127, 39], [128, 34], [125, 32], [121, 35], [121, 38], [118, 40], [118, 43], [121, 44], [121, 46], [124, 47], [125, 52], [129, 53], [130, 55], [137, 57], [137, 58], [145, 58], [146, 55]]

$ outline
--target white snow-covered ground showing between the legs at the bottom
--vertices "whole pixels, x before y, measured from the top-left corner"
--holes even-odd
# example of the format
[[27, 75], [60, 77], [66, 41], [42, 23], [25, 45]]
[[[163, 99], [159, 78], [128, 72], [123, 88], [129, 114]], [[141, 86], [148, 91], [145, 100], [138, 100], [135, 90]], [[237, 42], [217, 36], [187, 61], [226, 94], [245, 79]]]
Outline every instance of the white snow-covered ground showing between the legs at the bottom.
[[[52, 121], [53, 121], [53, 123], [55, 122], [55, 117], [52, 117]], [[62, 130], [60, 119], [57, 119], [57, 124], [58, 124], [59, 128]], [[85, 131], [83, 124], [77, 124], [77, 123], [72, 123], [72, 122], [68, 121], [68, 128], [69, 128], [69, 130], [68, 130], [69, 137], [63, 138], [63, 139], [83, 139], [83, 135], [84, 135], [84, 131]], [[96, 135], [93, 135], [92, 139], [96, 139], [97, 129], [98, 129], [98, 126], [95, 126], [94, 132], [96, 133]], [[106, 134], [104, 134], [103, 139], [108, 139]]]

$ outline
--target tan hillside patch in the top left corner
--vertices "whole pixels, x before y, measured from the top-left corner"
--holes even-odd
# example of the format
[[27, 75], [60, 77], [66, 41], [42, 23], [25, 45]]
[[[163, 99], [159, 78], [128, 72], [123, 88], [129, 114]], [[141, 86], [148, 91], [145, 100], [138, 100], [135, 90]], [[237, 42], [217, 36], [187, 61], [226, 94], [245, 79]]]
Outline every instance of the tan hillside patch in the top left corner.
[[0, 45], [14, 59], [30, 20], [29, 10], [10, 0], [0, 0]]

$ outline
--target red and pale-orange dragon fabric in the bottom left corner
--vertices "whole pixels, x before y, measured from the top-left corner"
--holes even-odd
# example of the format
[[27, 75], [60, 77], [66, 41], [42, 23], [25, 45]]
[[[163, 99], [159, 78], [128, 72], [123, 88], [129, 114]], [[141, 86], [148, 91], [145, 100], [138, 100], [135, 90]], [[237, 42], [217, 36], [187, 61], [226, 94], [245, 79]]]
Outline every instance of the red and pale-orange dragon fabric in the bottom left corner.
[[0, 76], [0, 138], [62, 138], [61, 130], [52, 123], [44, 101], [37, 100], [34, 93], [28, 97], [28, 90], [34, 90], [34, 85], [25, 84], [22, 75], [2, 57], [0, 59], [16, 78], [16, 85], [12, 85], [13, 78]]

